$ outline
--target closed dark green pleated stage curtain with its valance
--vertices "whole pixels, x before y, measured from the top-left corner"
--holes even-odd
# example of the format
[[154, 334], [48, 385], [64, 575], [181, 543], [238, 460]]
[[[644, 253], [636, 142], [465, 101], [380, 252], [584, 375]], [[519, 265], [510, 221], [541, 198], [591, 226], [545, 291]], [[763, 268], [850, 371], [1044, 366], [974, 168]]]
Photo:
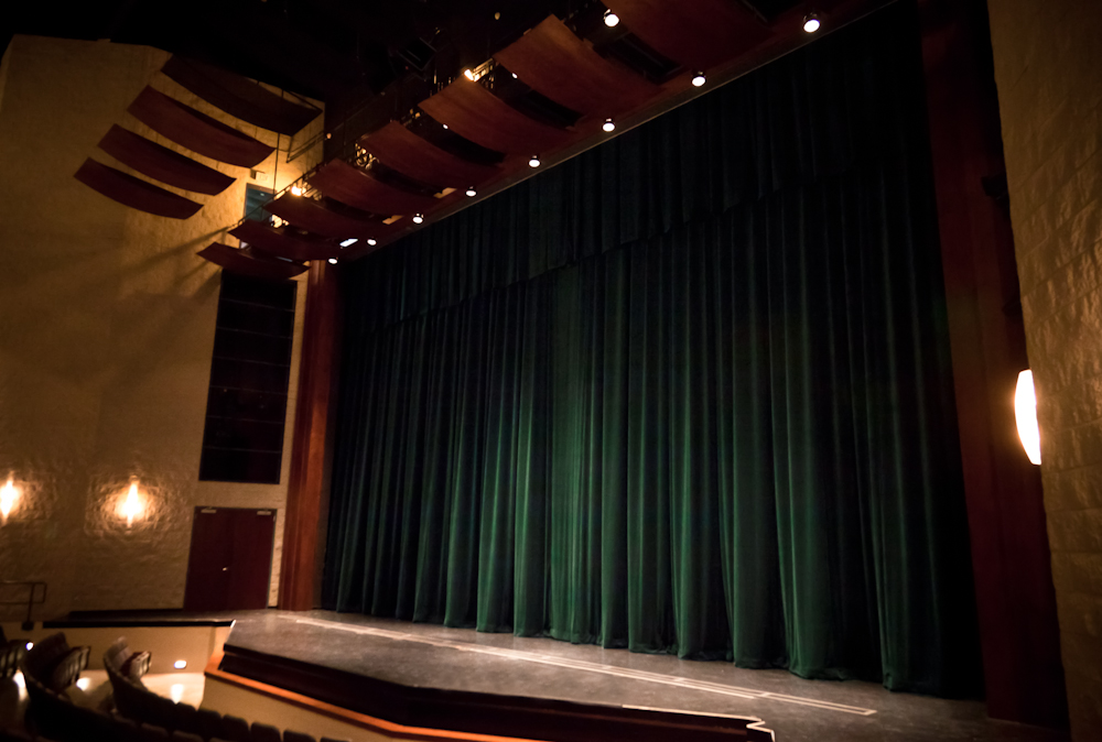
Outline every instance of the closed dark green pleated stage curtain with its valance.
[[353, 265], [324, 605], [975, 691], [915, 29]]

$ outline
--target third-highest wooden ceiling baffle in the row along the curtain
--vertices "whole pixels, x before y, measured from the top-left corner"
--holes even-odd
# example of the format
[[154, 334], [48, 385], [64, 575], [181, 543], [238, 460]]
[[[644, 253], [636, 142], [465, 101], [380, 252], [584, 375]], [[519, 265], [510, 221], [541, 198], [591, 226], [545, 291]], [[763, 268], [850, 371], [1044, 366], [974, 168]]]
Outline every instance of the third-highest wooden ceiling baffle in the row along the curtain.
[[531, 154], [561, 144], [570, 135], [564, 129], [528, 118], [462, 76], [418, 105], [460, 137], [498, 152]]

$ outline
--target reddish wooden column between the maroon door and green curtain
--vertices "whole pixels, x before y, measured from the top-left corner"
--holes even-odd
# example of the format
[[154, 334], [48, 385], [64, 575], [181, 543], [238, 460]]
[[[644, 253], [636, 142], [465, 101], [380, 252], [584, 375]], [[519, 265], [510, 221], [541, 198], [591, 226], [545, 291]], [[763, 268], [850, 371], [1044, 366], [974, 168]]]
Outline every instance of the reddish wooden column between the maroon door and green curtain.
[[332, 395], [336, 392], [341, 321], [336, 269], [324, 260], [311, 261], [306, 281], [299, 396], [295, 402], [279, 579], [279, 607], [289, 611], [314, 608], [314, 578], [324, 547], [318, 543], [318, 526], [327, 487], [326, 433]]

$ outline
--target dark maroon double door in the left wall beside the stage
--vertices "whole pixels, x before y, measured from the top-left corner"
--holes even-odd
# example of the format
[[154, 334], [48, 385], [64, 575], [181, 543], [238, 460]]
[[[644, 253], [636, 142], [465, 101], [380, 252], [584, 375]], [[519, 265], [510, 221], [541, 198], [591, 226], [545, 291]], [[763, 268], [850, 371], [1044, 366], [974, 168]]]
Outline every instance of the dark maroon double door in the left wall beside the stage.
[[268, 607], [276, 511], [196, 508], [185, 611]]

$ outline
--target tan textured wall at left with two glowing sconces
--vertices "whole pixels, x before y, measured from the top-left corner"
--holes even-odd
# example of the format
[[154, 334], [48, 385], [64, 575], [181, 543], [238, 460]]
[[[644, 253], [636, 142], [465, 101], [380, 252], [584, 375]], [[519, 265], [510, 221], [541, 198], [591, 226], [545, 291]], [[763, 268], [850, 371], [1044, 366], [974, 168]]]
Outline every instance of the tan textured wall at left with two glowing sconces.
[[[195, 505], [278, 509], [279, 585], [304, 283], [279, 485], [199, 482], [219, 270], [195, 255], [241, 216], [246, 168], [190, 153], [126, 113], [149, 83], [246, 133], [245, 124], [156, 73], [158, 50], [17, 36], [0, 80], [0, 477], [22, 489], [0, 525], [0, 580], [45, 580], [39, 616], [67, 610], [183, 605]], [[78, 183], [112, 123], [238, 179], [179, 221], [142, 214]], [[295, 141], [320, 131], [318, 118]], [[258, 170], [283, 187], [321, 148]], [[277, 174], [278, 167], [278, 174]], [[122, 167], [122, 170], [127, 170]], [[129, 171], [128, 171], [129, 172]], [[127, 527], [131, 477], [147, 510]], [[2, 483], [2, 482], [0, 482]]]

